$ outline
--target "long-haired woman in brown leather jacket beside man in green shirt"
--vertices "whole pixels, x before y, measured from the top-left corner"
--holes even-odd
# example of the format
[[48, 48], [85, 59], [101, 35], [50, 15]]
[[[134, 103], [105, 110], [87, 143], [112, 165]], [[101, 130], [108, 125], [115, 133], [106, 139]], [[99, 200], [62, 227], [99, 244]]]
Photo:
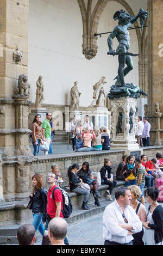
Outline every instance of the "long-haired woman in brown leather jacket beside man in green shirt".
[[40, 149], [40, 140], [45, 141], [42, 130], [42, 123], [40, 121], [41, 115], [35, 115], [32, 126], [32, 144], [34, 148], [33, 155], [37, 156]]

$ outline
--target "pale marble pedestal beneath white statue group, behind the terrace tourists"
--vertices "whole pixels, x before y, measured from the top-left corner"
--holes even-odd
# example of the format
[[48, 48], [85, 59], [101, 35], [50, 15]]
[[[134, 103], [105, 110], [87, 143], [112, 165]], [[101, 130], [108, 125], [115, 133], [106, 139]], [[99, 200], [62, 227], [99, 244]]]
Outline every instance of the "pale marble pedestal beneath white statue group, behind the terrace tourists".
[[93, 126], [107, 127], [110, 130], [109, 116], [110, 112], [106, 107], [87, 107], [86, 111], [82, 111], [82, 122], [85, 120], [85, 115], [89, 115], [89, 119], [92, 121]]

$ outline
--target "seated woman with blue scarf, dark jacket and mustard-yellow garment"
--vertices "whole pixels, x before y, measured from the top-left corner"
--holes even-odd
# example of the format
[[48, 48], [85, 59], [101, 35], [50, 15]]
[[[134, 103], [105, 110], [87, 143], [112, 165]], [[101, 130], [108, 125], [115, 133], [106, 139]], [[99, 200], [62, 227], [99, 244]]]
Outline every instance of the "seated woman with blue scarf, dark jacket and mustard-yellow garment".
[[133, 155], [126, 157], [126, 164], [123, 166], [120, 174], [126, 182], [126, 187], [136, 185], [136, 176], [138, 172], [137, 164], [134, 162]]

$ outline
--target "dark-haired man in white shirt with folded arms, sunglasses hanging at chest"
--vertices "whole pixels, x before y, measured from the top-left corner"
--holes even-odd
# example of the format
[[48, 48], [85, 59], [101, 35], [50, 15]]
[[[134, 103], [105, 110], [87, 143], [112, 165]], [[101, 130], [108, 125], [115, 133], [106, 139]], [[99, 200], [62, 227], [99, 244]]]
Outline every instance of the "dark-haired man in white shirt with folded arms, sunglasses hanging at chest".
[[132, 234], [142, 230], [142, 222], [129, 205], [129, 188], [118, 188], [115, 198], [113, 203], [106, 206], [103, 214], [104, 245], [133, 245]]

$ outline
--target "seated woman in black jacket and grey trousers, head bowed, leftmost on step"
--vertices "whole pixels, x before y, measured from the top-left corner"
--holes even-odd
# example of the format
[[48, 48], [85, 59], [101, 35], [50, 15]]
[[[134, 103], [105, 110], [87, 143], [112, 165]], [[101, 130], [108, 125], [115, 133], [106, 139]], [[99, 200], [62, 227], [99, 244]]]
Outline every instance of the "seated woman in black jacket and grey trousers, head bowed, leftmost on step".
[[74, 163], [73, 166], [70, 166], [68, 168], [67, 174], [69, 178], [70, 190], [78, 194], [84, 194], [82, 209], [89, 210], [90, 208], [87, 206], [87, 199], [90, 196], [90, 191], [84, 190], [83, 188], [79, 187], [79, 185], [82, 184], [82, 179], [78, 179], [76, 175], [78, 169], [79, 164], [77, 163]]

